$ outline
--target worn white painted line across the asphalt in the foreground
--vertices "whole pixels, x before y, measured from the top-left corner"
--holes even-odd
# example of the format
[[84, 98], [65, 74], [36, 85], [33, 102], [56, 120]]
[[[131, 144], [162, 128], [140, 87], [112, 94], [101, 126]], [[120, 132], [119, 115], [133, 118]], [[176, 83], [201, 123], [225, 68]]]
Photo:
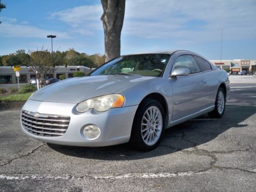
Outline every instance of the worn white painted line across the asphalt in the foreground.
[[184, 177], [192, 175], [200, 175], [206, 172], [178, 172], [178, 173], [134, 173], [134, 174], [114, 174], [109, 176], [51, 176], [51, 175], [34, 175], [34, 174], [2, 174], [1, 179], [6, 180], [68, 180], [68, 179], [127, 179], [127, 178], [172, 178], [172, 177]]

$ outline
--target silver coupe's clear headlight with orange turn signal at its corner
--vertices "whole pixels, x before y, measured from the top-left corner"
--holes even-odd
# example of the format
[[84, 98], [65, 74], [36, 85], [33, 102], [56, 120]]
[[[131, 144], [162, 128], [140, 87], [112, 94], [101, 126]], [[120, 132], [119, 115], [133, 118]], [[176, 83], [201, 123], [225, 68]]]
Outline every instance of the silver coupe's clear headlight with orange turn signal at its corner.
[[94, 109], [97, 112], [103, 112], [111, 108], [120, 108], [123, 103], [124, 97], [121, 94], [103, 95], [80, 102], [76, 107], [76, 111], [82, 113], [89, 109]]

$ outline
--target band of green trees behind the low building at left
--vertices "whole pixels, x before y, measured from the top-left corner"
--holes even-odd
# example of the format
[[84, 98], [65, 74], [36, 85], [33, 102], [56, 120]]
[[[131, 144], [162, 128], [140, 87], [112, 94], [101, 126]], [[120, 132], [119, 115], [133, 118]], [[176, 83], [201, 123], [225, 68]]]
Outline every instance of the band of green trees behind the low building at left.
[[[39, 66], [43, 63], [45, 69], [54, 70], [55, 66], [85, 66], [89, 68], [96, 68], [101, 66], [105, 61], [105, 55], [101, 56], [99, 53], [94, 55], [87, 55], [86, 53], [79, 53], [73, 48], [65, 52], [56, 51], [53, 55], [48, 51], [41, 50], [31, 51], [26, 53], [25, 50], [17, 50], [15, 53], [9, 55], [2, 55], [0, 57], [0, 66], [33, 66], [33, 71], [38, 71]], [[45, 71], [45, 70], [43, 70]]]

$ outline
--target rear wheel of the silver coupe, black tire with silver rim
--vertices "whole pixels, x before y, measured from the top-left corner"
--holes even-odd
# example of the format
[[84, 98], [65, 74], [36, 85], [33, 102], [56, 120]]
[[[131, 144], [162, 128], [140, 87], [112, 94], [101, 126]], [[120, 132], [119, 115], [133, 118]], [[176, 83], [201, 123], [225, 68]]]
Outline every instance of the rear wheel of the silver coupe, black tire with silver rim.
[[219, 88], [215, 100], [215, 108], [214, 111], [208, 113], [208, 115], [212, 118], [221, 118], [224, 114], [226, 106], [226, 95], [223, 88]]

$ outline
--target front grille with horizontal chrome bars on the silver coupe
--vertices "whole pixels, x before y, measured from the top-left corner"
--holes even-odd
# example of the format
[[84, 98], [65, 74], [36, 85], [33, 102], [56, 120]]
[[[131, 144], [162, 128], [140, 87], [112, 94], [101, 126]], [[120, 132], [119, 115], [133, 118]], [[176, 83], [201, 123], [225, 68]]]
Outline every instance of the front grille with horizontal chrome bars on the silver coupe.
[[37, 112], [22, 111], [24, 129], [37, 136], [60, 137], [68, 129], [70, 117], [63, 115], [48, 115]]

